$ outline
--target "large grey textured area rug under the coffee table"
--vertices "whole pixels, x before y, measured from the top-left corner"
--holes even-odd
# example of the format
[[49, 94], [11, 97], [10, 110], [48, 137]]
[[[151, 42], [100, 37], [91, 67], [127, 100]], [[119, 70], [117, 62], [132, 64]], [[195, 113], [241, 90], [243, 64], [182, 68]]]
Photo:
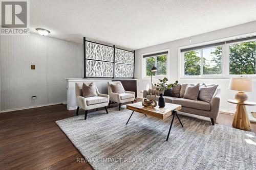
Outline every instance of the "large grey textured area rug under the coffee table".
[[252, 132], [180, 116], [165, 121], [118, 108], [56, 123], [94, 169], [256, 169]]

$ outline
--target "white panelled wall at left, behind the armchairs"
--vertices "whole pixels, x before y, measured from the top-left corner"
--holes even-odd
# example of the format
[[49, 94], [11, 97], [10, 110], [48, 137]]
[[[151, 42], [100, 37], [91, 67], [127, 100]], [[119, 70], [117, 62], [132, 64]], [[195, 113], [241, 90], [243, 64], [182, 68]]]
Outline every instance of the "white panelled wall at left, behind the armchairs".
[[0, 38], [2, 112], [67, 101], [62, 78], [82, 78], [81, 44], [32, 33]]

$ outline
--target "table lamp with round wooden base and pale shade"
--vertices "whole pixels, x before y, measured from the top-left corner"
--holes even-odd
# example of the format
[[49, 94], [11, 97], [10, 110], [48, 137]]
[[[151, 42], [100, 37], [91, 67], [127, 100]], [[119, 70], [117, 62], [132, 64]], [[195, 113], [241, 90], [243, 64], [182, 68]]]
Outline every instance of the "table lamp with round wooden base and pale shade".
[[244, 91], [252, 91], [252, 80], [248, 78], [231, 78], [229, 83], [230, 90], [237, 90], [238, 93], [234, 95], [234, 99], [238, 102], [243, 103], [247, 101], [248, 96]]

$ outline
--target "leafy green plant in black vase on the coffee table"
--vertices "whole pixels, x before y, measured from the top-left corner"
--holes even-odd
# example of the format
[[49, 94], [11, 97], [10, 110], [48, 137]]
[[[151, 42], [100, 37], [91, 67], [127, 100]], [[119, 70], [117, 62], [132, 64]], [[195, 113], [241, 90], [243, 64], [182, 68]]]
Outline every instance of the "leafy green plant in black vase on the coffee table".
[[160, 91], [160, 97], [158, 99], [158, 106], [159, 107], [164, 107], [165, 106], [165, 100], [163, 98], [163, 92], [164, 90], [169, 90], [172, 87], [175, 87], [178, 84], [178, 81], [175, 81], [175, 83], [170, 83], [168, 84], [167, 81], [168, 79], [164, 77], [163, 79], [158, 79], [159, 82], [155, 84], [157, 87], [156, 90]]

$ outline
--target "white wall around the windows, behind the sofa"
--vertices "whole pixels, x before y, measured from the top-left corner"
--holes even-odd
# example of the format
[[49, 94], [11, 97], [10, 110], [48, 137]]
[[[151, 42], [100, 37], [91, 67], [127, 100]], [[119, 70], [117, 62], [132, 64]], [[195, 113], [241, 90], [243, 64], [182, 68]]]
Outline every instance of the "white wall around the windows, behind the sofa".
[[[199, 26], [199, 29], [200, 29], [200, 26]], [[188, 28], [188, 31], [189, 31], [189, 28]], [[145, 89], [147, 83], [150, 84], [150, 79], [142, 80], [142, 77], [141, 77], [141, 55], [144, 53], [150, 53], [154, 51], [169, 49], [169, 52], [170, 52], [169, 80], [170, 82], [174, 82], [175, 80], [178, 80], [180, 83], [204, 82], [204, 83], [219, 84], [219, 87], [221, 88], [221, 110], [234, 111], [235, 105], [227, 103], [227, 99], [233, 99], [233, 96], [236, 93], [235, 91], [228, 90], [229, 79], [179, 79], [178, 48], [181, 46], [198, 44], [202, 42], [213, 41], [213, 40], [218, 40], [218, 39], [223, 39], [227, 37], [233, 37], [233, 36], [238, 36], [238, 35], [243, 35], [248, 33], [255, 33], [255, 32], [256, 32], [256, 21], [253, 21], [253, 22], [245, 23], [243, 25], [239, 25], [235, 27], [230, 27], [230, 28], [226, 28], [226, 29], [222, 29], [214, 32], [209, 32], [209, 33], [205, 33], [205, 34], [201, 34], [193, 37], [183, 38], [180, 40], [170, 41], [163, 44], [136, 50], [135, 78], [138, 79], [138, 88], [137, 88], [138, 97], [139, 98], [142, 97], [142, 93], [140, 93], [139, 91]], [[192, 43], [188, 42], [189, 39], [192, 40]], [[255, 81], [256, 80], [254, 80], [253, 82], [254, 92], [247, 92], [249, 96], [249, 101], [254, 101], [254, 102], [256, 102], [256, 82]], [[154, 82], [157, 82], [157, 79], [154, 80]], [[256, 111], [256, 106], [248, 106], [247, 110]]]

